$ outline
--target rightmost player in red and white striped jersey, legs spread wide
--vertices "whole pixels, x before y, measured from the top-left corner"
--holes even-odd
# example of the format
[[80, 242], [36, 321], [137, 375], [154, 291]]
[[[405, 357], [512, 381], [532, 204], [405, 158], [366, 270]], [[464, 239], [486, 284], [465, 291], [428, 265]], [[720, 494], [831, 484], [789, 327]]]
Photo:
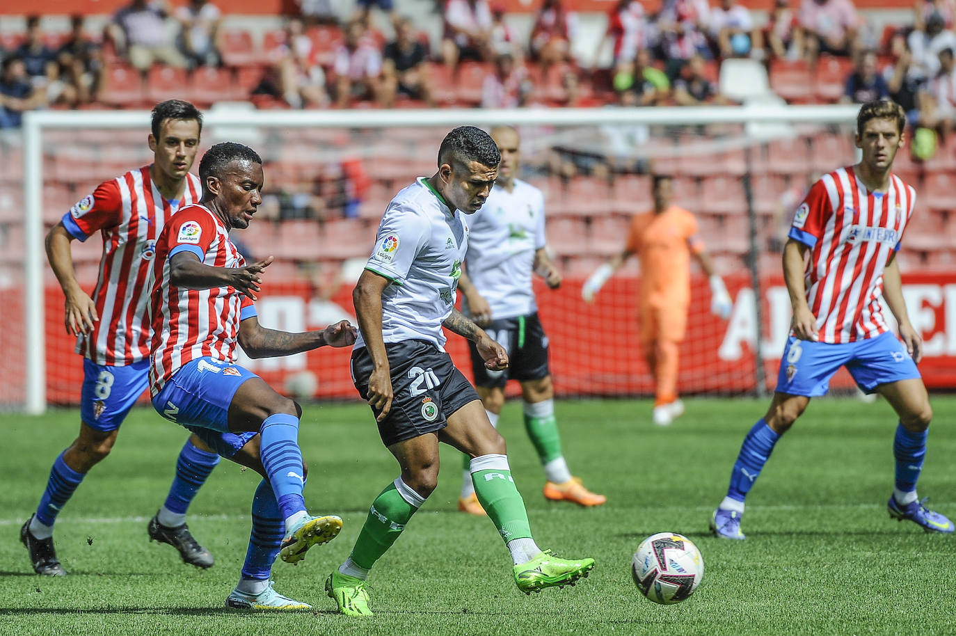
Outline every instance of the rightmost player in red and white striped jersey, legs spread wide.
[[[771, 406], [744, 439], [727, 496], [711, 517], [717, 537], [744, 538], [740, 520], [754, 480], [810, 399], [827, 393], [840, 366], [899, 416], [890, 517], [913, 521], [926, 532], [953, 532], [952, 521], [926, 508], [916, 493], [933, 411], [916, 367], [923, 339], [906, 314], [896, 260], [916, 197], [892, 172], [905, 125], [899, 104], [863, 104], [856, 134], [861, 160], [824, 175], [796, 208], [783, 250], [791, 334]], [[883, 318], [880, 296], [897, 319], [902, 342]]]

